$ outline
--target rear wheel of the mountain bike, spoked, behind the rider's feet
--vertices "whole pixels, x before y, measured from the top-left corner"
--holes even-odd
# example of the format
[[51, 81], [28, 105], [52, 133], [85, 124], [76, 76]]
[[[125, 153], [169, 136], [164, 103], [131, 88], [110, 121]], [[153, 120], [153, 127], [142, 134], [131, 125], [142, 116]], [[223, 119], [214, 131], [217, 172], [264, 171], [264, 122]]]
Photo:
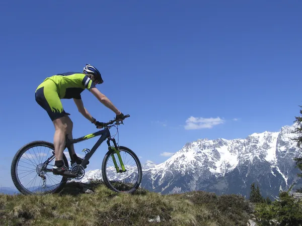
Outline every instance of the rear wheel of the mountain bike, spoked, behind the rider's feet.
[[[20, 148], [11, 165], [11, 176], [16, 188], [22, 194], [61, 191], [67, 178], [52, 173], [54, 157], [54, 146], [47, 141], [33, 141]], [[63, 161], [68, 167], [64, 154]]]

